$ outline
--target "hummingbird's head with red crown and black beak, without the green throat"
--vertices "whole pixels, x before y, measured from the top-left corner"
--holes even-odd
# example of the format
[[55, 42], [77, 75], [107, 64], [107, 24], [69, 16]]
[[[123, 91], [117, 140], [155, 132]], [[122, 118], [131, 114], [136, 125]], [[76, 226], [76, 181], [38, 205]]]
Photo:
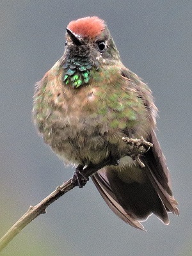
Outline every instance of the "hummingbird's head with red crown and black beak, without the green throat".
[[67, 26], [66, 50], [74, 56], [91, 55], [93, 60], [110, 61], [119, 58], [113, 38], [104, 20], [85, 17], [72, 20]]

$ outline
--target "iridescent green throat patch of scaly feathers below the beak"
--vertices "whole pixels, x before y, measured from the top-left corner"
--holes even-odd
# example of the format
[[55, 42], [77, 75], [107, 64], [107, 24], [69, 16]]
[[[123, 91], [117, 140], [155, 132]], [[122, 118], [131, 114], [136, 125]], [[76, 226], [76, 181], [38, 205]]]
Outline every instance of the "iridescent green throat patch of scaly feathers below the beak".
[[87, 58], [72, 58], [63, 64], [65, 70], [63, 81], [78, 88], [82, 84], [87, 84], [90, 80], [90, 61]]

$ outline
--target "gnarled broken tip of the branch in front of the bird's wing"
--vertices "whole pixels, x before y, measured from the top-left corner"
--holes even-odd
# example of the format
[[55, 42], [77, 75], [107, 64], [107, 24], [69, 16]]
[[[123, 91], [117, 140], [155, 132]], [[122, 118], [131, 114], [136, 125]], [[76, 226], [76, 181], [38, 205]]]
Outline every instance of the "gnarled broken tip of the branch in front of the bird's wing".
[[140, 155], [147, 152], [150, 147], [153, 146], [152, 143], [144, 140], [143, 137], [141, 137], [141, 139], [123, 137], [122, 140], [129, 145], [127, 148], [129, 152], [128, 155], [131, 156], [131, 158], [136, 161], [141, 168], [145, 167], [145, 164], [140, 159]]

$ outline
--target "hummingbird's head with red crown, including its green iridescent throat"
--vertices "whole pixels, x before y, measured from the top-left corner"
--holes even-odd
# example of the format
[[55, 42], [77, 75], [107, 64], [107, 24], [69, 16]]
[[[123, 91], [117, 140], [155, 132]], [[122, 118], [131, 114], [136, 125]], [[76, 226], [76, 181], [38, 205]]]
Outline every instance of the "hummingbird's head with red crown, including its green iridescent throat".
[[115, 65], [120, 60], [113, 38], [104, 20], [85, 17], [72, 20], [67, 28], [63, 81], [74, 88], [90, 81], [92, 68]]

